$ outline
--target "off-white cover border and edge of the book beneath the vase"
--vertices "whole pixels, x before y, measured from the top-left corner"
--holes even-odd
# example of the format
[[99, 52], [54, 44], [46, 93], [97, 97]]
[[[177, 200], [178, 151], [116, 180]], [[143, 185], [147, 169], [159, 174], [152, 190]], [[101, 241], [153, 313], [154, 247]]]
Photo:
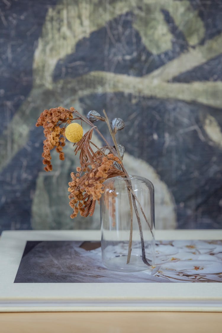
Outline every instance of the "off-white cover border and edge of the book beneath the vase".
[[[0, 311], [222, 311], [214, 283], [14, 283], [29, 240], [100, 240], [99, 230], [4, 231]], [[156, 239], [222, 239], [222, 230], [156, 230]]]

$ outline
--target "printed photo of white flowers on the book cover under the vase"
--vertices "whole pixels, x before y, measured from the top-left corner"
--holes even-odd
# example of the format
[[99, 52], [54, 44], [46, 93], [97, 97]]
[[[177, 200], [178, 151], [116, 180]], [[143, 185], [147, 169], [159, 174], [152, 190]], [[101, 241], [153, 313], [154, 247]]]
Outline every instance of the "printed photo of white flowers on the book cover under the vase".
[[105, 268], [100, 242], [27, 241], [14, 282], [222, 282], [222, 241], [157, 241], [155, 266], [135, 273]]

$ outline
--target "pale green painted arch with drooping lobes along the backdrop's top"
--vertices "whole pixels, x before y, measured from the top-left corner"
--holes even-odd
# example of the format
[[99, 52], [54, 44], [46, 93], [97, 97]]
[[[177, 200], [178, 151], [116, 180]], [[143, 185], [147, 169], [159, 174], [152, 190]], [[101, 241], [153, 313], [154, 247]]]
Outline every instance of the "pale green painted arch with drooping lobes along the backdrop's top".
[[120, 0], [111, 4], [98, 0], [61, 0], [57, 6], [49, 8], [46, 16], [34, 56], [34, 84], [52, 87], [52, 74], [59, 59], [75, 52], [79, 40], [129, 11], [135, 15], [133, 26], [150, 52], [158, 54], [170, 50], [173, 36], [161, 12], [164, 9], [170, 12], [190, 45], [200, 42], [204, 25], [186, 0], [179, 3], [174, 0]]

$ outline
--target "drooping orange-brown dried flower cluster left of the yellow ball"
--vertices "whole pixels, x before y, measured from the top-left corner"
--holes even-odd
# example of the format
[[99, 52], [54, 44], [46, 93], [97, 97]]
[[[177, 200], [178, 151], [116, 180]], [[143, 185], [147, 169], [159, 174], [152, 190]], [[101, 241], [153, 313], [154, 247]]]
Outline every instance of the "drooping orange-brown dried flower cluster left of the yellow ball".
[[39, 119], [37, 120], [36, 126], [43, 126], [46, 140], [43, 141], [43, 164], [46, 166], [46, 171], [52, 170], [51, 154], [50, 151], [56, 148], [59, 153], [60, 160], [64, 160], [64, 153], [62, 152], [65, 146], [65, 127], [60, 127], [58, 122], [61, 124], [70, 124], [73, 119], [73, 110], [68, 110], [62, 107], [44, 110]]

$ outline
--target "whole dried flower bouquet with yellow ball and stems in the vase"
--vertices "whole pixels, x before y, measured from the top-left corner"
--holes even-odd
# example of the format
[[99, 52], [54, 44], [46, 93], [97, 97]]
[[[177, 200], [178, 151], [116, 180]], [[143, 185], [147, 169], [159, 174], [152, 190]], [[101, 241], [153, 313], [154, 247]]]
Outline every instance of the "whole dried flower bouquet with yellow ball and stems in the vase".
[[[104, 193], [103, 182], [106, 179], [115, 176], [126, 178], [125, 181], [127, 183], [131, 220], [127, 264], [130, 261], [134, 209], [140, 232], [142, 260], [145, 264], [150, 265], [145, 255], [143, 232], [137, 205], [149, 226], [152, 236], [153, 232], [143, 212], [141, 204], [132, 190], [130, 179], [127, 179], [129, 178], [129, 175], [122, 164], [125, 149], [122, 145], [117, 144], [115, 138], [116, 132], [123, 129], [125, 125], [120, 118], [115, 118], [110, 123], [105, 110], [103, 110], [103, 113], [104, 116], [101, 116], [97, 111], [93, 110], [88, 113], [87, 117], [84, 117], [74, 108], [68, 110], [63, 107], [58, 107], [44, 110], [36, 123], [37, 127], [43, 126], [46, 137], [43, 142], [44, 146], [42, 154], [43, 164], [45, 165], [44, 169], [46, 171], [52, 170], [50, 154], [52, 149], [56, 149], [59, 153], [60, 160], [65, 159], [63, 147], [65, 146], [66, 139], [74, 143], [75, 154], [80, 152], [80, 166], [77, 167], [77, 172], [71, 173], [72, 181], [69, 182], [68, 188], [68, 191], [70, 192], [70, 206], [73, 208], [71, 218], [75, 218], [78, 213], [82, 216], [93, 215], [96, 201], [99, 201], [102, 193]], [[73, 121], [80, 121], [81, 125]], [[107, 124], [114, 144], [113, 146], [107, 142], [97, 126], [94, 125], [97, 121], [103, 121]], [[85, 122], [91, 127], [91, 129], [84, 135], [82, 122]], [[91, 141], [93, 131], [96, 131], [104, 141], [104, 147], [99, 148]]]

